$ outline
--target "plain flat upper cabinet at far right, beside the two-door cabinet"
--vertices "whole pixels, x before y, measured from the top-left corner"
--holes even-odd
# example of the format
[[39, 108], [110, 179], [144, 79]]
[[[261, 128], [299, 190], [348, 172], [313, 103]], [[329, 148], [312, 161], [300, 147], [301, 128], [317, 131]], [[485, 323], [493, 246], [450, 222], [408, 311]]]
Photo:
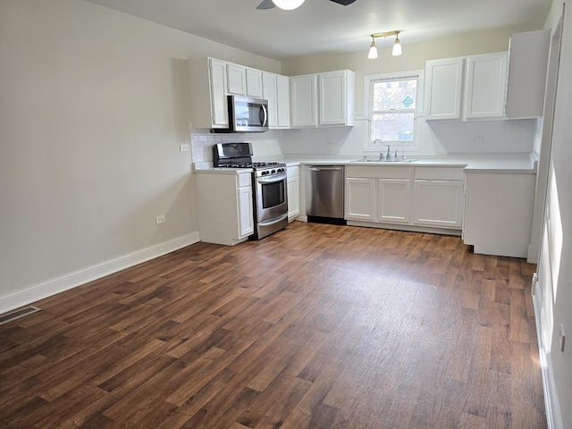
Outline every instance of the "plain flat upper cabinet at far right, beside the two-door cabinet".
[[543, 116], [550, 29], [513, 34], [509, 42], [508, 118]]

